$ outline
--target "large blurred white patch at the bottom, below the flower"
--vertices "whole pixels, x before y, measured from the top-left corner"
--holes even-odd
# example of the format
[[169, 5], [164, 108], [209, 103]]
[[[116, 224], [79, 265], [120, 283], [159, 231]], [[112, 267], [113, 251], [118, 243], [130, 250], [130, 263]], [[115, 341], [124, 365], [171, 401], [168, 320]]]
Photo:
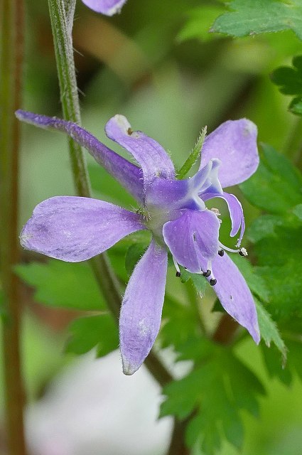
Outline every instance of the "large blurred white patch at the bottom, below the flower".
[[173, 422], [156, 420], [160, 393], [144, 365], [124, 376], [117, 351], [82, 356], [28, 408], [31, 455], [164, 455]]

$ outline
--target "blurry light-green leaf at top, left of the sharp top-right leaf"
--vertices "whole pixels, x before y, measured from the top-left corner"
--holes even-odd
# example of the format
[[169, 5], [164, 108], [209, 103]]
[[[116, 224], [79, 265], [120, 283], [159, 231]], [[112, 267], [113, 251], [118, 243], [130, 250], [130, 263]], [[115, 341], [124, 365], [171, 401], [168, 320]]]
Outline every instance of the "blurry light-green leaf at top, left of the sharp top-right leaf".
[[187, 20], [183, 28], [178, 33], [178, 41], [186, 41], [193, 38], [209, 41], [216, 38], [210, 33], [210, 26], [212, 26], [215, 18], [224, 11], [225, 7], [220, 5], [203, 5], [191, 9], [187, 13]]

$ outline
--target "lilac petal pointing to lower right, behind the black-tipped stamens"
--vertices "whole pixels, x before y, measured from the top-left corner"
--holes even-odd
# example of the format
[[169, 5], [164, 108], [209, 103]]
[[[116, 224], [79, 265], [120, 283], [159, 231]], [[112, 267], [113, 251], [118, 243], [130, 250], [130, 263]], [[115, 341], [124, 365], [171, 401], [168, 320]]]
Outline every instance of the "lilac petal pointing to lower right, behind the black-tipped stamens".
[[217, 279], [213, 289], [223, 308], [241, 326], [247, 328], [255, 343], [258, 344], [260, 333], [257, 311], [244, 277], [226, 253], [222, 257], [218, 255], [215, 257], [212, 271]]

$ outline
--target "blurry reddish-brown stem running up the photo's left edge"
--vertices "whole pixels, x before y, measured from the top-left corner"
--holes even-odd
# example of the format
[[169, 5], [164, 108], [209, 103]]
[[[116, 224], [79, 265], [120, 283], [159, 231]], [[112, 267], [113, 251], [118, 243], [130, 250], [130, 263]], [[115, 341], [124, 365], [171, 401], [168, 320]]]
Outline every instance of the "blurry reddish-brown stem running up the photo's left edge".
[[0, 194], [1, 282], [4, 292], [3, 324], [6, 432], [10, 455], [25, 455], [21, 375], [19, 283], [13, 272], [18, 263], [18, 148], [23, 62], [23, 0], [0, 2]]

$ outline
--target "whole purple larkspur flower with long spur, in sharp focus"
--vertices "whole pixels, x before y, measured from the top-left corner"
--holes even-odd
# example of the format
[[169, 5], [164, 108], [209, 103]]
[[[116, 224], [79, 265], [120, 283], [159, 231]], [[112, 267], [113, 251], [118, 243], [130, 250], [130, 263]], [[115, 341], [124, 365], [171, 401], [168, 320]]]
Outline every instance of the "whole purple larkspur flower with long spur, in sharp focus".
[[[148, 355], [161, 324], [168, 249], [189, 272], [203, 274], [222, 306], [259, 343], [254, 300], [242, 274], [225, 250], [246, 254], [239, 245], [244, 232], [242, 205], [222, 191], [246, 180], [258, 164], [257, 128], [247, 119], [228, 121], [205, 138], [199, 171], [176, 180], [163, 147], [135, 132], [122, 115], [107, 122], [107, 137], [124, 147], [139, 166], [130, 163], [77, 124], [55, 117], [17, 111], [18, 119], [69, 134], [90, 152], [136, 198], [130, 212], [91, 198], [58, 196], [38, 204], [21, 232], [21, 245], [68, 262], [84, 261], [104, 252], [131, 232], [150, 230], [151, 244], [134, 268], [124, 293], [119, 318], [123, 370], [133, 374]], [[223, 198], [232, 221], [230, 235], [240, 230], [237, 250], [219, 241], [220, 219], [205, 202]]]

